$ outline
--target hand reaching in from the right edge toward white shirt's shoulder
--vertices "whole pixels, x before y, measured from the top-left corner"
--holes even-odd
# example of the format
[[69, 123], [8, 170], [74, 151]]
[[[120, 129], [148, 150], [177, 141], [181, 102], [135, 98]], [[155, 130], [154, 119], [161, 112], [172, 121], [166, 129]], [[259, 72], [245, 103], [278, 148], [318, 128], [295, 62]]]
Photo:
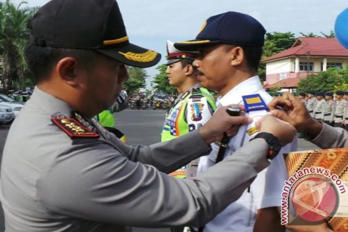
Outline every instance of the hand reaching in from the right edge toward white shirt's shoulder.
[[[271, 114], [293, 125], [298, 130], [306, 130], [311, 136], [316, 136], [322, 130], [322, 124], [312, 118], [304, 104], [290, 93], [275, 97], [269, 104]], [[282, 110], [279, 109], [282, 107]]]

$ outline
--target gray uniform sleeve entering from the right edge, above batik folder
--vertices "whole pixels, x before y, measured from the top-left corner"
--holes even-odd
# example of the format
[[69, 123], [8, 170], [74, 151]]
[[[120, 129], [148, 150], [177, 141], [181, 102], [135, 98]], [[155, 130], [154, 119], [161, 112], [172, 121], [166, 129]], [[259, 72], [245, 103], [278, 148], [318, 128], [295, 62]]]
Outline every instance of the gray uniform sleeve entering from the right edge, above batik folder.
[[322, 131], [311, 142], [322, 149], [348, 147], [348, 132], [345, 129], [322, 124]]

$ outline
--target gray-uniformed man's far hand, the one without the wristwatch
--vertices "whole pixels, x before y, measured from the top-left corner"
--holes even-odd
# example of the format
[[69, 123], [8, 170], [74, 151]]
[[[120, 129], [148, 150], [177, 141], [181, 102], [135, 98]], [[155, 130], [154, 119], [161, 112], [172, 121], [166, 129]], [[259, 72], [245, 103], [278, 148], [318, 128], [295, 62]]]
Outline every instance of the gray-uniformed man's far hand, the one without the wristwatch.
[[[229, 106], [237, 106], [240, 110], [244, 111], [243, 105]], [[251, 118], [245, 117], [244, 114], [237, 117], [230, 116], [226, 112], [229, 106], [219, 108], [205, 125], [199, 129], [200, 135], [207, 144], [221, 140], [224, 132], [226, 132], [229, 137], [232, 137], [237, 134], [239, 125], [249, 124], [253, 121]]]

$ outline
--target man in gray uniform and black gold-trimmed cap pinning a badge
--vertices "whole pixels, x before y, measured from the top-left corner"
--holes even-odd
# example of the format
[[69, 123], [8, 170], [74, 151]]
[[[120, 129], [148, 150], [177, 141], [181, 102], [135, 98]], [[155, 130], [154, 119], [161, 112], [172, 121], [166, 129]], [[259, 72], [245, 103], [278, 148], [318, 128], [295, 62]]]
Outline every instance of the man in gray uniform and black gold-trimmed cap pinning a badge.
[[53, 0], [29, 26], [25, 55], [38, 85], [3, 150], [7, 232], [199, 226], [239, 198], [269, 165], [267, 154], [292, 141], [294, 127], [269, 115], [259, 130], [273, 142], [256, 138], [200, 177], [168, 176], [211, 152], [224, 131], [233, 136], [233, 124], [251, 121], [222, 107], [199, 130], [128, 146], [93, 117], [118, 97], [125, 64], [153, 66], [160, 55], [129, 43], [116, 1]]

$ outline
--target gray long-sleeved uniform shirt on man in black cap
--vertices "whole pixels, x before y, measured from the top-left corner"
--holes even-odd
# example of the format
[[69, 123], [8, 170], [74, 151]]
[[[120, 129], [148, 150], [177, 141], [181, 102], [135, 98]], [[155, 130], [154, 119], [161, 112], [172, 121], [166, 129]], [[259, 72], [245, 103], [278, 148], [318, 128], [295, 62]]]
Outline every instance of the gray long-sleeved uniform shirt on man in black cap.
[[167, 173], [211, 151], [198, 130], [132, 147], [94, 124], [100, 138], [72, 139], [50, 120], [72, 110], [35, 88], [13, 122], [0, 180], [7, 232], [200, 226], [269, 165], [267, 143], [255, 139], [200, 177], [175, 179]]

